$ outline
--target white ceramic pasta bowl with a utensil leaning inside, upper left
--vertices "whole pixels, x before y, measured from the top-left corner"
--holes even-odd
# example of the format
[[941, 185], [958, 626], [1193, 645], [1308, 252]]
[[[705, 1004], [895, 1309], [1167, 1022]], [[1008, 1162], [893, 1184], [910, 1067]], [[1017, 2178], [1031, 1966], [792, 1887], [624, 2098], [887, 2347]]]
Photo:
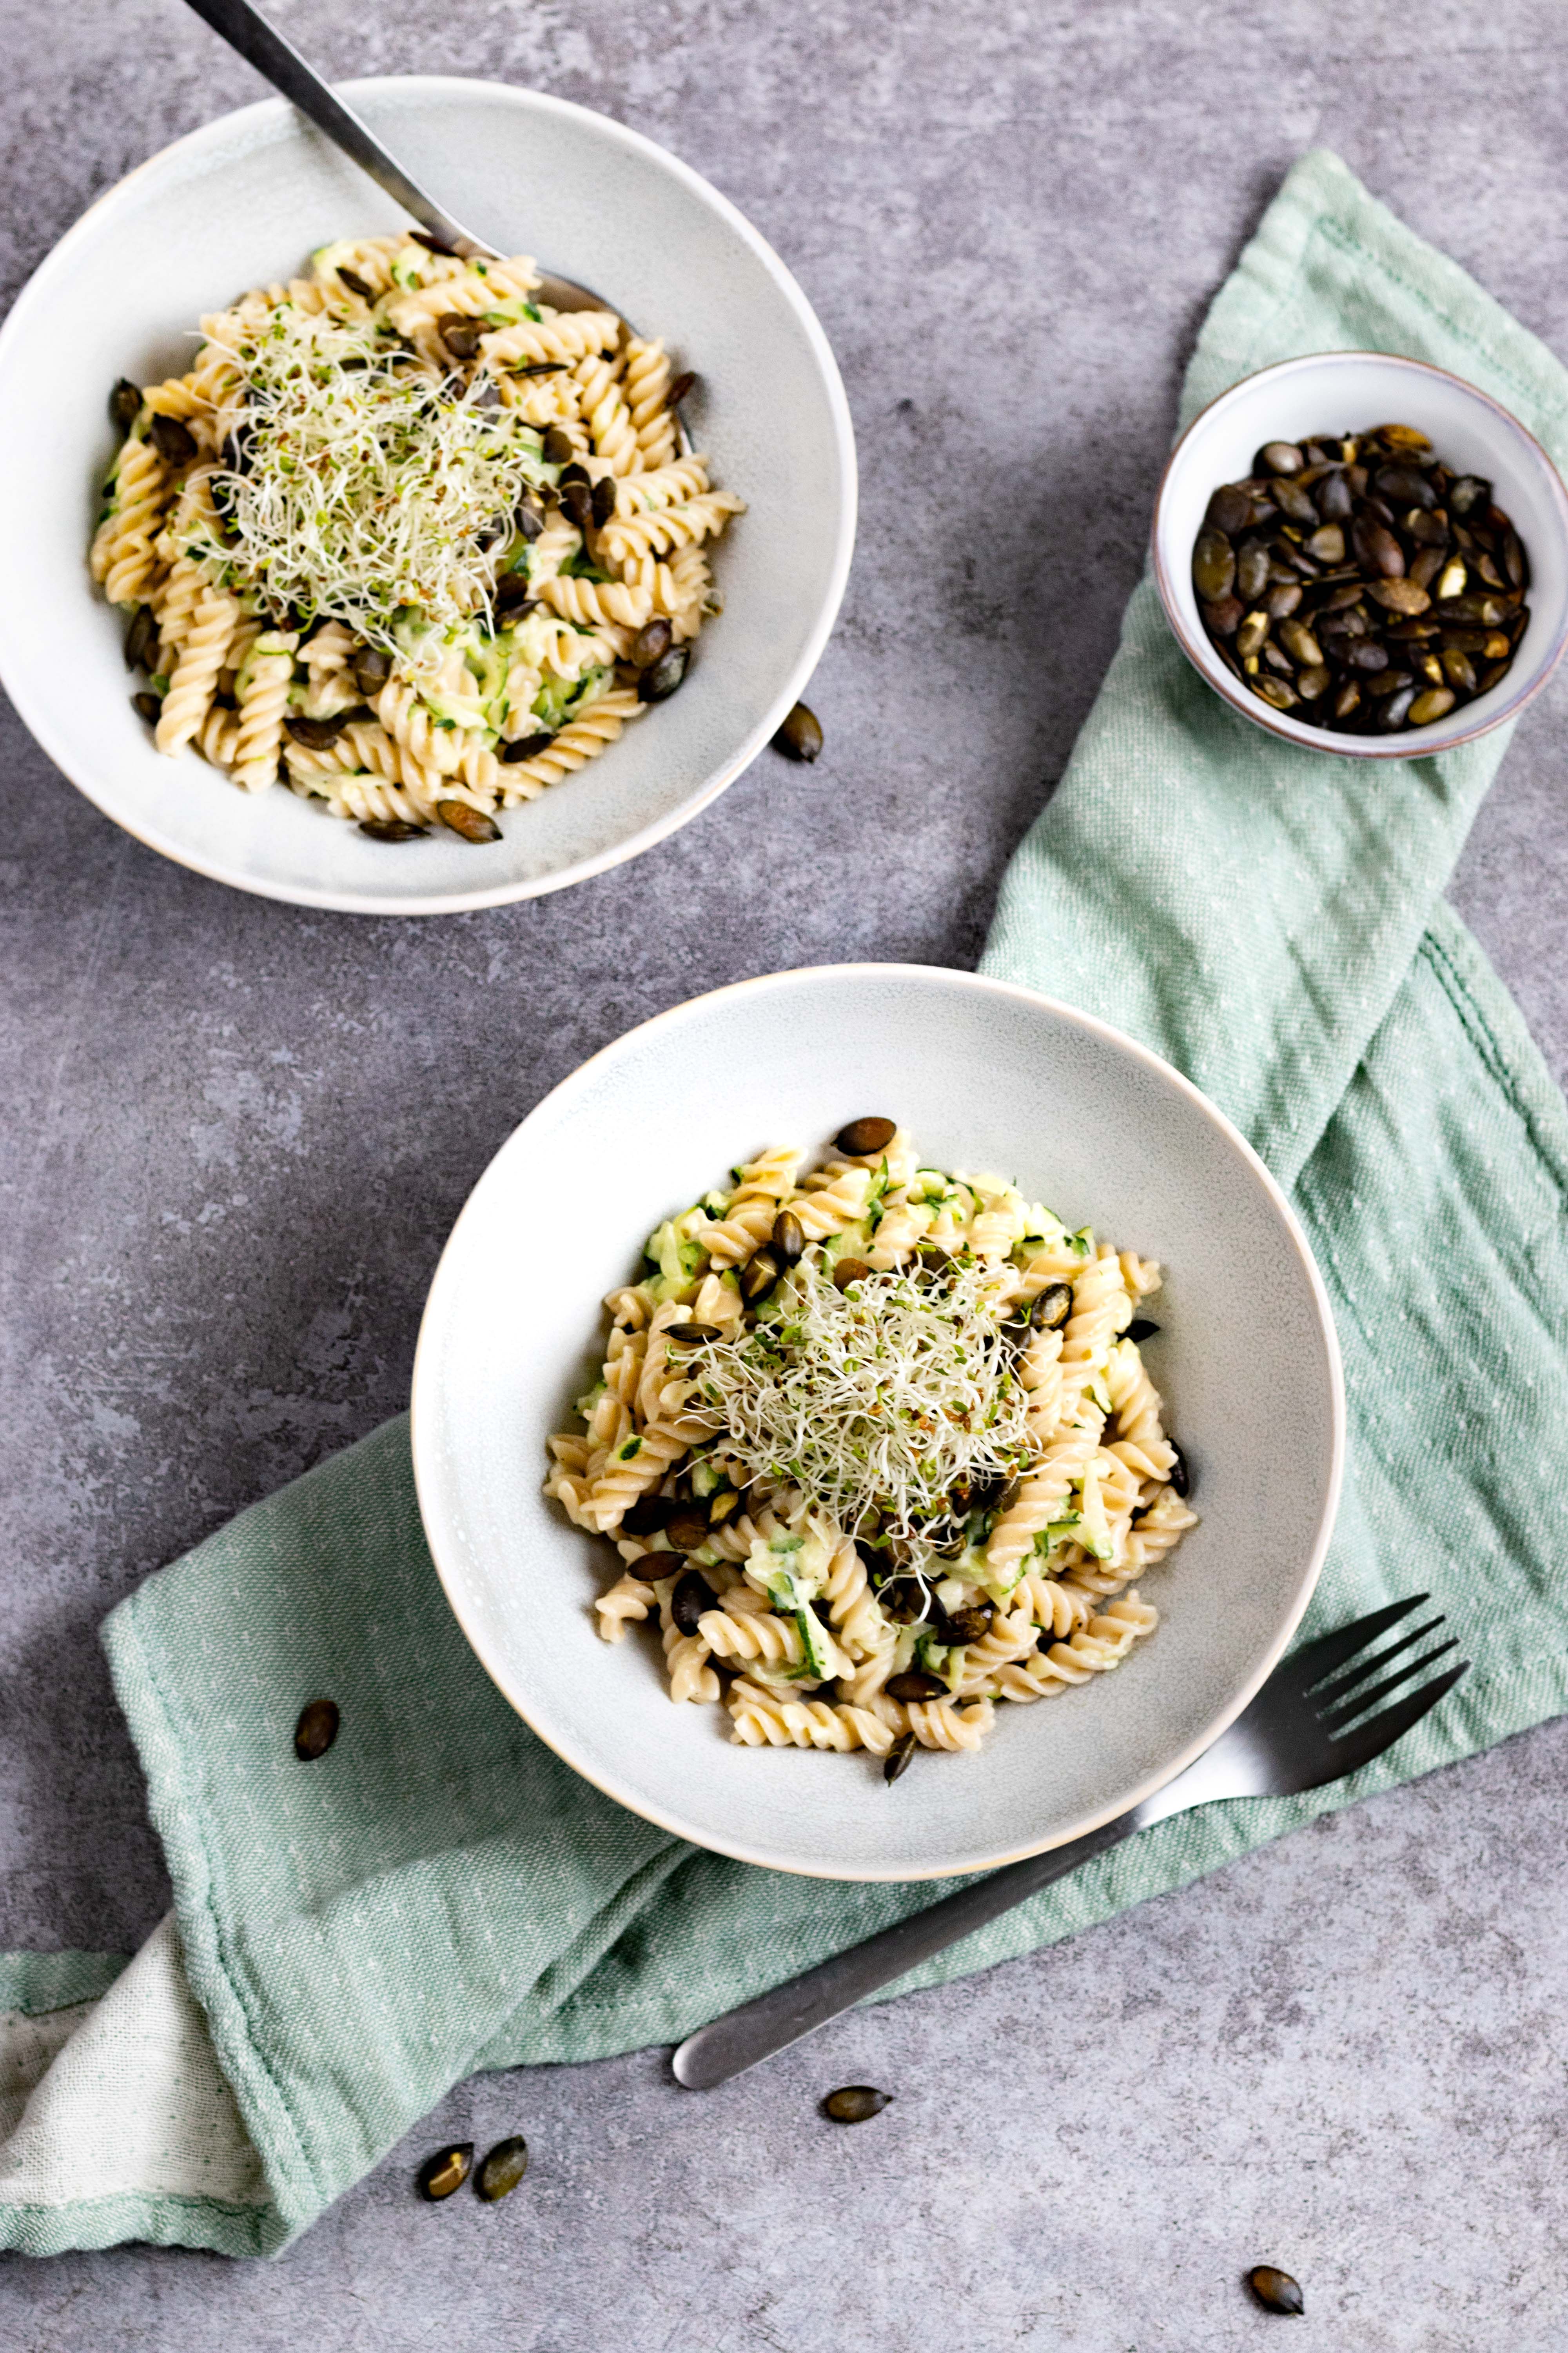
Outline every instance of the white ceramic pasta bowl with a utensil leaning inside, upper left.
[[503, 819], [503, 842], [400, 847], [282, 786], [247, 795], [162, 760], [129, 706], [125, 621], [87, 579], [113, 454], [108, 388], [188, 365], [205, 311], [289, 278], [313, 247], [404, 214], [282, 101], [165, 148], [61, 238], [0, 332], [0, 668], [49, 758], [120, 826], [197, 873], [378, 915], [437, 915], [559, 889], [651, 847], [757, 758], [844, 595], [856, 456], [844, 386], [778, 256], [708, 181], [564, 99], [465, 80], [350, 85], [416, 179], [503, 252], [576, 278], [701, 384], [686, 421], [750, 511], [726, 534], [726, 612], [682, 692], [578, 776]]

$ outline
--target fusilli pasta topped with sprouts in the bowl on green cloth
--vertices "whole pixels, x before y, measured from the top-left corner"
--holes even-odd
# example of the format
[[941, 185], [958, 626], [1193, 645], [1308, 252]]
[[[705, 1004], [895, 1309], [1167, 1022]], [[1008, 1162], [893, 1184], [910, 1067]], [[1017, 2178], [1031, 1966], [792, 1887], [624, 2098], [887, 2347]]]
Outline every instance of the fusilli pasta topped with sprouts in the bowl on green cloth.
[[1140, 1344], [1159, 1268], [893, 1120], [766, 1151], [661, 1224], [545, 1492], [609, 1537], [599, 1633], [745, 1746], [978, 1748], [1117, 1668], [1190, 1473]]

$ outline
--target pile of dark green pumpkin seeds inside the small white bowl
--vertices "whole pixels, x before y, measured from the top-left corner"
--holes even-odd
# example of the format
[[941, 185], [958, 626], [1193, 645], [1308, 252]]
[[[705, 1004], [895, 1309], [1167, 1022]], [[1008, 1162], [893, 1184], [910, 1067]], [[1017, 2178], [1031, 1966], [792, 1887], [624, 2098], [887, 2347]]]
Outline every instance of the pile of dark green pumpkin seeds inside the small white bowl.
[[1530, 565], [1479, 473], [1415, 426], [1265, 442], [1192, 548], [1220, 661], [1331, 734], [1432, 727], [1507, 678]]

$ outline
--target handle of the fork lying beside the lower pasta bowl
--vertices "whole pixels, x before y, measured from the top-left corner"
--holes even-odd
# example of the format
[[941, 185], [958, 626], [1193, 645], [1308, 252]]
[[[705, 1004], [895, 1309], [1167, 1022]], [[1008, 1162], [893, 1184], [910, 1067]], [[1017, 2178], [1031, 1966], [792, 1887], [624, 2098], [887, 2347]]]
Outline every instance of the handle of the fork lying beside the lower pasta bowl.
[[820, 1960], [816, 1969], [802, 1969], [799, 1977], [759, 1993], [710, 2026], [698, 2026], [675, 2052], [675, 2080], [684, 2082], [689, 2092], [712, 2092], [715, 2085], [729, 2082], [731, 2075], [757, 2066], [759, 2059], [771, 2059], [773, 2052], [799, 2042], [802, 2035], [816, 2033], [827, 2019], [837, 2019], [842, 2009], [851, 2009], [853, 2002], [889, 1986], [905, 1969], [931, 1960], [959, 1937], [971, 1937], [978, 1927], [1013, 1911], [1016, 1904], [1027, 1904], [1041, 1887], [1065, 1880], [1079, 1864], [1117, 1847], [1135, 1828], [1140, 1828], [1138, 1809], [1103, 1821], [1098, 1831], [1088, 1831], [1065, 1847], [1006, 1864], [1001, 1871], [943, 1897], [940, 1904], [910, 1913], [907, 1920], [896, 1920], [893, 1927], [879, 1929], [865, 1944], [851, 1944], [846, 1953]]

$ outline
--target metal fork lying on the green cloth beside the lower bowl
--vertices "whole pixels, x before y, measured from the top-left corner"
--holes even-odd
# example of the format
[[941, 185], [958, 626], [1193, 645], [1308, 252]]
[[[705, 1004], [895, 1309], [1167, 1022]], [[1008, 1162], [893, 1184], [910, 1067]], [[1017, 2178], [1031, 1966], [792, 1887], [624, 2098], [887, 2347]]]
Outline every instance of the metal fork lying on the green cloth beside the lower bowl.
[[[837, 2019], [842, 2009], [875, 1993], [877, 1986], [891, 1984], [905, 1969], [929, 1960], [931, 1953], [940, 1953], [959, 1937], [985, 1927], [987, 1920], [1001, 1918], [1016, 1904], [1025, 1904], [1041, 1887], [1067, 1878], [1079, 1864], [1105, 1854], [1107, 1847], [1152, 1821], [1185, 1814], [1194, 1805], [1213, 1805], [1215, 1798], [1288, 1798], [1371, 1765], [1410, 1732], [1469, 1666], [1467, 1659], [1460, 1659], [1458, 1666], [1443, 1668], [1432, 1682], [1406, 1692], [1382, 1713], [1366, 1713], [1458, 1649], [1450, 1638], [1420, 1659], [1406, 1657], [1441, 1628], [1439, 1614], [1371, 1657], [1359, 1657], [1413, 1609], [1420, 1609], [1425, 1600], [1429, 1600], [1427, 1593], [1413, 1593], [1403, 1602], [1373, 1609], [1368, 1617], [1340, 1626], [1338, 1633], [1326, 1633], [1293, 1652], [1194, 1765], [1187, 1765], [1128, 1814], [1119, 1814], [1117, 1821], [1105, 1821], [1098, 1831], [1088, 1831], [1065, 1847], [1051, 1847], [1046, 1854], [1030, 1854], [1023, 1864], [992, 1871], [990, 1878], [959, 1887], [957, 1894], [943, 1897], [929, 1911], [898, 1920], [882, 1934], [867, 1937], [865, 1944], [835, 1953], [816, 1969], [804, 1969], [802, 1977], [759, 1993], [755, 2002], [743, 2002], [741, 2009], [731, 2009], [710, 2026], [698, 2026], [675, 2052], [675, 2080], [691, 2092], [710, 2092], [715, 2085], [729, 2082], [731, 2075], [741, 2075], [759, 2059], [771, 2059], [773, 2052], [799, 2042], [802, 2035]], [[1403, 1666], [1396, 1666], [1394, 1661], [1401, 1657]]]

